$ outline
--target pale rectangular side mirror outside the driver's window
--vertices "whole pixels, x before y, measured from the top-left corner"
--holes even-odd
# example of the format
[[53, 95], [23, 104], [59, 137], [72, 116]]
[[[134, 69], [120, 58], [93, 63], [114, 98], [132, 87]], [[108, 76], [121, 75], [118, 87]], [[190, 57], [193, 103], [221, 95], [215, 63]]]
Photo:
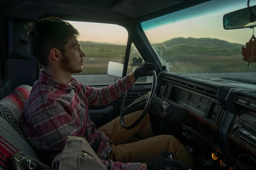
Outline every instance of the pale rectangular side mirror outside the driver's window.
[[122, 78], [123, 77], [124, 64], [117, 62], [109, 62], [108, 75], [112, 77]]

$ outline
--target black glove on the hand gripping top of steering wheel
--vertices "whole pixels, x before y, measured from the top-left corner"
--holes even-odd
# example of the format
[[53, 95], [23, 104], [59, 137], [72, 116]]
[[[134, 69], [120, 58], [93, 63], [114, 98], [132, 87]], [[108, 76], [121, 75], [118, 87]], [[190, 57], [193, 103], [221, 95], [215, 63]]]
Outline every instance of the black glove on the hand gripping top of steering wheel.
[[156, 71], [156, 64], [145, 62], [134, 70], [134, 77], [140, 78], [144, 76], [153, 76], [152, 69]]

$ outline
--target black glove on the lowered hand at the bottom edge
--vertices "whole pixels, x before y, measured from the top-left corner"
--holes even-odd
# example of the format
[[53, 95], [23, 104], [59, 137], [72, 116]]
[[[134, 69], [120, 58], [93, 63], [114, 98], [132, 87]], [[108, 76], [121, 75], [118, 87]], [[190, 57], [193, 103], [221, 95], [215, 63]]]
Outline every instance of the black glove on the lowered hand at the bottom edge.
[[169, 151], [164, 151], [161, 155], [157, 156], [155, 159], [153, 159], [152, 161], [148, 161], [146, 162], [147, 165], [147, 169], [148, 170], [188, 170], [189, 166], [186, 165], [185, 163], [178, 161], [178, 160], [174, 160], [174, 159], [168, 159], [168, 155], [175, 155], [175, 153], [173, 152], [169, 152]]

